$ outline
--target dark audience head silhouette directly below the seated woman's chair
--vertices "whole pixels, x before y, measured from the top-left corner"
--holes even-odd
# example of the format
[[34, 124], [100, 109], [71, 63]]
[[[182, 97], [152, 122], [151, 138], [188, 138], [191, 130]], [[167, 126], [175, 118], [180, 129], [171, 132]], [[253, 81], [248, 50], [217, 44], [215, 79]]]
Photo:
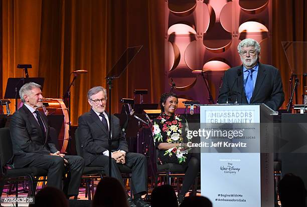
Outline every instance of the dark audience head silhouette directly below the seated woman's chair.
[[151, 207], [178, 207], [176, 193], [171, 185], [161, 185], [151, 192]]

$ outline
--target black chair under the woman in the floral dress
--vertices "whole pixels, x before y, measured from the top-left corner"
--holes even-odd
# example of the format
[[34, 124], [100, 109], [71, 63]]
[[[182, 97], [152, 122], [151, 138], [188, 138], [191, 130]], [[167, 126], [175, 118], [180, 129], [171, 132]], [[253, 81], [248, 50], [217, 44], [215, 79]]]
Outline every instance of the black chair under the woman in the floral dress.
[[[184, 177], [186, 173], [186, 169], [182, 164], [178, 163], [166, 163], [160, 164], [158, 161], [159, 149], [156, 150], [156, 159], [157, 159], [157, 173], [156, 173], [156, 186], [158, 186], [158, 176], [166, 177], [166, 183], [171, 185], [171, 178], [180, 178]], [[198, 177], [200, 177], [200, 173], [195, 178], [195, 183], [192, 186], [192, 195], [196, 195]], [[179, 182], [177, 179], [177, 191], [179, 191]]]

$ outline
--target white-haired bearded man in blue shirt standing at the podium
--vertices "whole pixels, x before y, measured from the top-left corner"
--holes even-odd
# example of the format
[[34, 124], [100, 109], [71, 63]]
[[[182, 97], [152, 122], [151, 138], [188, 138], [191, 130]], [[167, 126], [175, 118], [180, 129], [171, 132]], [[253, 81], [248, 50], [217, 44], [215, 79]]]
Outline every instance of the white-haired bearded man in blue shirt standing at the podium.
[[253, 39], [239, 43], [242, 65], [225, 72], [218, 103], [264, 103], [274, 111], [282, 105], [284, 92], [279, 70], [259, 62], [260, 50]]

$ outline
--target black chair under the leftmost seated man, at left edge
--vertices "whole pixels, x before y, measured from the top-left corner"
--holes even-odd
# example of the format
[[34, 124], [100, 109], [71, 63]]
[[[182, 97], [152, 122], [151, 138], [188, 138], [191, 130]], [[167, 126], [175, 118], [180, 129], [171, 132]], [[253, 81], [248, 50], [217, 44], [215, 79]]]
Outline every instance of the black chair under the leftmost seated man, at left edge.
[[[38, 167], [10, 168], [8, 162], [13, 158], [13, 145], [9, 128], [0, 128], [0, 195], [3, 192], [6, 181], [29, 181], [29, 195], [35, 195], [37, 178], [47, 176], [48, 171]], [[11, 165], [12, 167], [12, 165]], [[16, 196], [18, 196], [18, 184], [16, 184]]]

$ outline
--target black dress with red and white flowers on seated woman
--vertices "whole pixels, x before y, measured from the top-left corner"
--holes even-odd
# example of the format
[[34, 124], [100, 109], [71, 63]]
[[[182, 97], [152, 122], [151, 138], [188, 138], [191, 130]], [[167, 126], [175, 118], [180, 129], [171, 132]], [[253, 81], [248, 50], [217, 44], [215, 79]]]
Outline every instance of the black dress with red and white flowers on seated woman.
[[[155, 146], [160, 143], [187, 143], [186, 130], [188, 129], [187, 121], [184, 116], [174, 114], [168, 116], [162, 113], [152, 121], [152, 136], [154, 137]], [[184, 147], [172, 147], [168, 150], [158, 150], [158, 162], [165, 163], [186, 163], [188, 150]]]

